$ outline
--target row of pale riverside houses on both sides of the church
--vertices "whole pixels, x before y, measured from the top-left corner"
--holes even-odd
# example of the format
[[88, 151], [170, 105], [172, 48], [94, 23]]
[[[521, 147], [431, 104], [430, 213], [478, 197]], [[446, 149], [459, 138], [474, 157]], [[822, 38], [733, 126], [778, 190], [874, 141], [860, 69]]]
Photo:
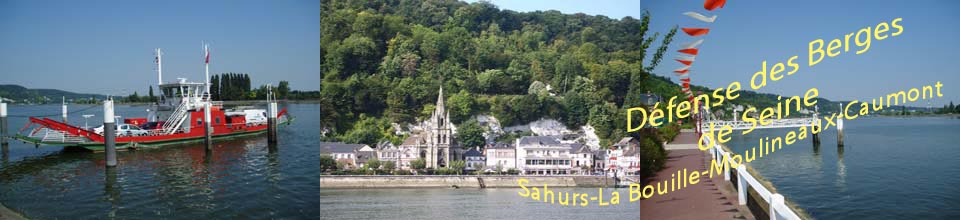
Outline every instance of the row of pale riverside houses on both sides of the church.
[[[394, 161], [398, 169], [411, 169], [410, 162], [424, 158], [410, 149], [381, 144], [372, 148], [364, 144], [324, 142], [322, 154], [350, 168], [362, 167], [366, 161]], [[514, 143], [488, 144], [485, 148], [467, 149], [450, 158], [463, 160], [466, 170], [506, 172], [517, 170], [527, 175], [597, 174], [616, 172], [634, 173], [640, 170], [642, 155], [639, 142], [623, 138], [608, 149], [592, 150], [582, 143], [563, 141], [553, 136], [526, 136]], [[426, 158], [424, 158], [426, 160]]]

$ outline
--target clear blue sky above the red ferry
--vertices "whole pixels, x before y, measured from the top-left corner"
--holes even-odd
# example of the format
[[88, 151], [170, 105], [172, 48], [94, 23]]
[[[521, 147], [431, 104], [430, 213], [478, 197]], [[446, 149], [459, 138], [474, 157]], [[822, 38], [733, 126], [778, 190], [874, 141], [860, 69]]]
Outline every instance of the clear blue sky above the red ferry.
[[[0, 84], [145, 95], [164, 82], [250, 74], [252, 87], [320, 88], [319, 1], [0, 1]], [[155, 88], [156, 89], [156, 88]]]

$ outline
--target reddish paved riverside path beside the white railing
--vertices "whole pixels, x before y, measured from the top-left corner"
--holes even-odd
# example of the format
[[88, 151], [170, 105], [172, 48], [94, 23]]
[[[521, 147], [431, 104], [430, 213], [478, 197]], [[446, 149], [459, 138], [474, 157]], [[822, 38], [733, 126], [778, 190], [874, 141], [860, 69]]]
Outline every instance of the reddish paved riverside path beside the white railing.
[[[669, 152], [666, 168], [650, 178], [648, 184], [656, 187], [657, 182], [669, 181], [671, 174], [683, 168], [689, 172], [707, 170], [710, 155], [697, 149], [697, 140], [696, 133], [684, 131], [673, 143], [664, 146]], [[736, 194], [732, 190], [733, 187], [723, 181], [723, 175], [701, 176], [700, 183], [641, 200], [640, 219], [754, 219], [749, 214], [744, 216], [746, 207], [736, 205]]]

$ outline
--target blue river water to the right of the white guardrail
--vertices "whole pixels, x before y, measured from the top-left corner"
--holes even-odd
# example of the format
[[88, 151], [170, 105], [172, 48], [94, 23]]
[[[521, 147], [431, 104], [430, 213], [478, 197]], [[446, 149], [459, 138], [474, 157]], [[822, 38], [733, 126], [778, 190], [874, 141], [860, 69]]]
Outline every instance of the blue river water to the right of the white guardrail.
[[[742, 154], [791, 130], [726, 145]], [[819, 147], [808, 136], [751, 166], [818, 219], [960, 219], [960, 119], [861, 117], [844, 121], [844, 139], [830, 128]]]

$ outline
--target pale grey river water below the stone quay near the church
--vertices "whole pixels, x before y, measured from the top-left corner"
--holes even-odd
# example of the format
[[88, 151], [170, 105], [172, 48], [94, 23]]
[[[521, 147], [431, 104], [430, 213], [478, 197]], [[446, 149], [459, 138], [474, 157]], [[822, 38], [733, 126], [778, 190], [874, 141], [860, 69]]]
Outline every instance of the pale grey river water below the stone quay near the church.
[[[599, 194], [597, 188], [550, 188], [554, 192]], [[321, 219], [639, 219], [640, 203], [629, 202], [625, 188], [620, 204], [561, 206], [521, 197], [507, 189], [321, 189]], [[609, 198], [604, 198], [609, 201]]]

